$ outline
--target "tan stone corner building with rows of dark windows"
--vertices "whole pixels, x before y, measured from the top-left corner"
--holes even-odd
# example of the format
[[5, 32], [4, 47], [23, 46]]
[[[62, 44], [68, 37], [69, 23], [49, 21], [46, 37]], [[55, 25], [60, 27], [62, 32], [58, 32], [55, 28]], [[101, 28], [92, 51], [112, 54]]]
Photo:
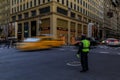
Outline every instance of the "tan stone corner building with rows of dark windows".
[[102, 38], [103, 0], [11, 0], [10, 4], [18, 39], [53, 34], [71, 44], [75, 37], [87, 34], [90, 22], [99, 25], [94, 37]]

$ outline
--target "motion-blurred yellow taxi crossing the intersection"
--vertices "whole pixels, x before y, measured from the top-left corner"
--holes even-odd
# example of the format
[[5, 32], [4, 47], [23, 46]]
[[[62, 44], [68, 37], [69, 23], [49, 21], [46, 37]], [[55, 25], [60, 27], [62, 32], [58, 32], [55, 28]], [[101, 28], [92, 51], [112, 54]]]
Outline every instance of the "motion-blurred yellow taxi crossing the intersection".
[[38, 36], [26, 38], [22, 42], [16, 43], [16, 48], [22, 51], [49, 49], [52, 47], [60, 47], [64, 45], [64, 41], [54, 39], [50, 36]]

